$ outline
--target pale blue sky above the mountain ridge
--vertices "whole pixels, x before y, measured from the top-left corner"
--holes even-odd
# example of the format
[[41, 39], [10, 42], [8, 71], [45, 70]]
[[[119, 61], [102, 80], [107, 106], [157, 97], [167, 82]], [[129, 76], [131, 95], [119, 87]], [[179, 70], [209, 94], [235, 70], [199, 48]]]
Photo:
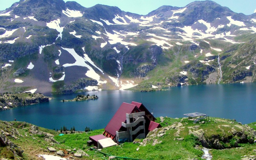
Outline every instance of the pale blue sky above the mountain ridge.
[[[19, 0], [0, 0], [0, 11], [9, 8]], [[162, 5], [184, 7], [195, 0], [64, 0], [76, 1], [88, 8], [96, 4], [117, 6], [122, 11], [146, 15]], [[234, 12], [250, 15], [256, 12], [256, 0], [212, 0], [222, 6], [226, 6]]]

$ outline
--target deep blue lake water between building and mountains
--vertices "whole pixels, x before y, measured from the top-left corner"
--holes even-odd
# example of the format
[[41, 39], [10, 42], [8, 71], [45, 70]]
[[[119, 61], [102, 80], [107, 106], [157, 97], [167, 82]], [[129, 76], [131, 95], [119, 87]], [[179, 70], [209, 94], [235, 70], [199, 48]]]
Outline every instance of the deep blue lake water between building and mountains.
[[62, 102], [77, 94], [51, 95], [50, 102], [0, 112], [4, 121], [26, 121], [44, 128], [84, 131], [105, 128], [123, 102], [142, 102], [154, 116], [184, 117], [199, 112], [212, 117], [236, 119], [243, 124], [256, 121], [256, 83], [211, 84], [171, 87], [160, 92], [96, 91], [98, 100]]

